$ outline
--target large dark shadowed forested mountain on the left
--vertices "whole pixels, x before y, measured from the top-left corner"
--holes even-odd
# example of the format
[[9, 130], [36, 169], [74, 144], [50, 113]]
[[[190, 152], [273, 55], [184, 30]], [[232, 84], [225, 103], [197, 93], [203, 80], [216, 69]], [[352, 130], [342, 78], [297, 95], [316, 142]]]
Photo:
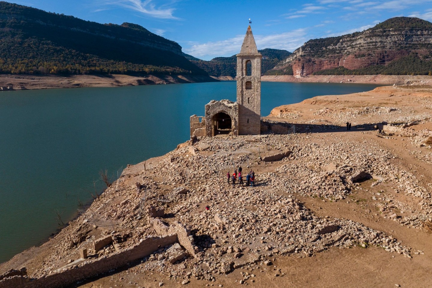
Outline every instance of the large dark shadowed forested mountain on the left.
[[0, 2], [0, 73], [206, 72], [140, 25], [99, 24]]

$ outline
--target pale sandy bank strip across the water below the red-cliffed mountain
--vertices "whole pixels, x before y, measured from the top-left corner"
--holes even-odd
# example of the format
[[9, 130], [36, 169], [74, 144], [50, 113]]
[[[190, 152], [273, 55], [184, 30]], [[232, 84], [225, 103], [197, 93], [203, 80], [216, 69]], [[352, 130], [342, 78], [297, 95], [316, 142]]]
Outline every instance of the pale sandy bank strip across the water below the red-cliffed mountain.
[[261, 76], [261, 81], [271, 82], [329, 82], [329, 83], [376, 83], [389, 85], [431, 85], [432, 76], [405, 76], [405, 75], [319, 75], [296, 78], [290, 75]]

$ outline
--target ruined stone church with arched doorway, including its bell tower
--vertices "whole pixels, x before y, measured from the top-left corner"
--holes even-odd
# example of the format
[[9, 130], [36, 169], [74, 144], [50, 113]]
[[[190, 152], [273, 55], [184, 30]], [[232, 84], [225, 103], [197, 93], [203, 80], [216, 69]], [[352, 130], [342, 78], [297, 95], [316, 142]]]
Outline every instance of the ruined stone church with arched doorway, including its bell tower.
[[261, 57], [249, 25], [237, 54], [237, 101], [206, 104], [205, 116], [191, 116], [191, 137], [260, 134]]

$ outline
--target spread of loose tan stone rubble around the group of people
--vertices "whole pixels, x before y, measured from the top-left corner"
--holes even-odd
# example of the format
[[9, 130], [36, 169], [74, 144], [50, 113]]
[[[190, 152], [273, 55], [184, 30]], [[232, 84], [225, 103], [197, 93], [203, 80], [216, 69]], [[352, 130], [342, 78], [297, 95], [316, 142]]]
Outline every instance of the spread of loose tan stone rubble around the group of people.
[[[203, 138], [169, 152], [152, 163], [150, 171], [121, 177], [76, 220], [80, 224], [73, 225], [73, 231], [61, 231], [57, 237], [64, 239], [54, 247], [37, 275], [77, 259], [79, 250], [95, 241], [88, 233], [98, 226], [113, 226], [105, 228], [104, 234], [112, 235], [120, 249], [155, 235], [147, 215], [158, 217], [166, 225], [187, 225], [196, 257], [179, 244], [161, 247], [130, 272], [151, 269], [172, 279], [213, 281], [217, 275], [240, 267], [267, 266], [278, 255], [313, 256], [329, 247], [353, 245], [374, 245], [411, 257], [410, 248], [390, 235], [343, 218], [317, 217], [296, 195], [324, 201], [347, 200], [362, 189], [362, 181], [374, 177], [379, 180], [371, 188], [393, 186], [385, 197], [371, 195], [379, 212], [413, 228], [422, 227], [422, 222], [432, 218], [431, 187], [423, 187], [412, 173], [392, 164], [396, 156], [376, 143], [346, 139], [332, 144], [305, 142], [309, 136], [243, 136], [217, 141]], [[244, 175], [253, 169], [249, 166], [265, 170], [264, 166], [273, 162], [260, 161], [264, 151], [287, 149], [291, 153], [278, 161], [279, 167], [256, 174], [256, 187], [232, 187], [227, 183], [227, 171], [232, 173], [237, 165], [242, 165]], [[142, 187], [140, 190], [136, 183]], [[398, 203], [394, 193], [418, 198], [421, 204], [412, 207]], [[399, 215], [395, 209], [413, 215]], [[112, 247], [104, 247], [94, 257], [114, 253]]]

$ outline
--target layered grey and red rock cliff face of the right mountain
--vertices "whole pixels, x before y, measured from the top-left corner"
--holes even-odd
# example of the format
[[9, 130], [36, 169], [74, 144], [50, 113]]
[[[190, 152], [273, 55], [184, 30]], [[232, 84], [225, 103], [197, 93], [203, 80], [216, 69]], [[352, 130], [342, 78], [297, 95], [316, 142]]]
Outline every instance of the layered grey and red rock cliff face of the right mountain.
[[397, 17], [364, 32], [310, 40], [273, 70], [284, 71], [290, 66], [294, 76], [302, 77], [339, 66], [353, 70], [387, 65], [411, 53], [429, 59], [431, 51], [432, 23]]

